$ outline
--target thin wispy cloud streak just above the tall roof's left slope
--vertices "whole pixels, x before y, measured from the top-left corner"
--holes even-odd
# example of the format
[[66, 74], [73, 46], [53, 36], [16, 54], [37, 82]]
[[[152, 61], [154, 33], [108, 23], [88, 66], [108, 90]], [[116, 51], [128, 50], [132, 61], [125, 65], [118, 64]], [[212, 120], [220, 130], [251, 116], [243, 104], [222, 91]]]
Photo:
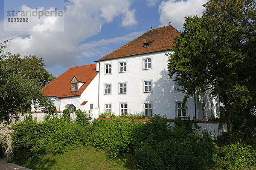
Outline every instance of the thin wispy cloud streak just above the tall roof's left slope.
[[134, 40], [141, 34], [143, 34], [144, 31], [138, 31], [133, 32], [130, 34], [127, 34], [123, 37], [115, 37], [111, 39], [103, 39], [99, 41], [92, 41], [89, 43], [84, 43], [79, 45], [79, 49], [81, 50], [81, 55], [84, 57], [92, 57], [92, 56], [105, 56], [106, 54], [111, 52], [111, 48], [109, 48], [111, 45], [115, 44], [125, 44], [131, 40]]

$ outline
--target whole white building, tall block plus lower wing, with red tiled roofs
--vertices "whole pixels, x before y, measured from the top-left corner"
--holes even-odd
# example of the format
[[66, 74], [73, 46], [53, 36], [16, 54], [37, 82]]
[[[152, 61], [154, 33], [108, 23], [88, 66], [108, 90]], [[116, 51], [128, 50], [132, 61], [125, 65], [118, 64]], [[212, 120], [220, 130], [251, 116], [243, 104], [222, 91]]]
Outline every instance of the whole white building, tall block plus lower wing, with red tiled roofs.
[[73, 67], [45, 87], [58, 111], [81, 109], [90, 117], [113, 112], [196, 117], [219, 117], [219, 99], [191, 96], [182, 108], [182, 88], [169, 77], [168, 57], [173, 38], [172, 26], [154, 28], [96, 61], [94, 65]]

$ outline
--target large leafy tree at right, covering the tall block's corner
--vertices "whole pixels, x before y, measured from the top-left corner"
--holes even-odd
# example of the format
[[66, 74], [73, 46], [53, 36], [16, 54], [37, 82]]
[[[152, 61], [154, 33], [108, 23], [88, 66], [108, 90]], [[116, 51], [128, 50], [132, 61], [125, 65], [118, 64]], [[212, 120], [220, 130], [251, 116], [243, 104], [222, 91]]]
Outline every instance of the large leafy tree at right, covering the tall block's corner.
[[[255, 109], [256, 3], [253, 0], [210, 0], [203, 16], [186, 17], [169, 56], [170, 77], [176, 76], [186, 96], [210, 92], [230, 108]], [[248, 105], [249, 104], [249, 105]]]

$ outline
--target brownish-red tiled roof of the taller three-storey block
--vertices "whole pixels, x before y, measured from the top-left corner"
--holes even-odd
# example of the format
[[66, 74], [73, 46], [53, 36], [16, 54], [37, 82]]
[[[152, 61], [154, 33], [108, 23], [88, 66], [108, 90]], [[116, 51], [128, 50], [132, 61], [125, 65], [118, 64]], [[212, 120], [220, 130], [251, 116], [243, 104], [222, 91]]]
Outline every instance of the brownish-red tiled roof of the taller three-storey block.
[[[177, 36], [180, 36], [179, 31], [177, 31], [171, 25], [154, 28], [95, 62], [119, 57], [128, 57], [138, 54], [170, 50], [174, 46], [173, 38]], [[148, 42], [150, 43], [149, 47], [144, 48], [144, 43]]]

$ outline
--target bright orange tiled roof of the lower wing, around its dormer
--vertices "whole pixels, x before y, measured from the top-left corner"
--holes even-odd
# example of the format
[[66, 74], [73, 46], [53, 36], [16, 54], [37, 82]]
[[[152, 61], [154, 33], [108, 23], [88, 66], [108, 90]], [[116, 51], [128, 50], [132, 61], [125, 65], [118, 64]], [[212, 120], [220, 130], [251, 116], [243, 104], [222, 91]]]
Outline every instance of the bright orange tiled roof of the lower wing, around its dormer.
[[[43, 88], [44, 96], [56, 96], [59, 98], [80, 96], [97, 74], [96, 64], [71, 67]], [[84, 84], [78, 91], [70, 92], [70, 80], [74, 76], [79, 82], [84, 82]]]

